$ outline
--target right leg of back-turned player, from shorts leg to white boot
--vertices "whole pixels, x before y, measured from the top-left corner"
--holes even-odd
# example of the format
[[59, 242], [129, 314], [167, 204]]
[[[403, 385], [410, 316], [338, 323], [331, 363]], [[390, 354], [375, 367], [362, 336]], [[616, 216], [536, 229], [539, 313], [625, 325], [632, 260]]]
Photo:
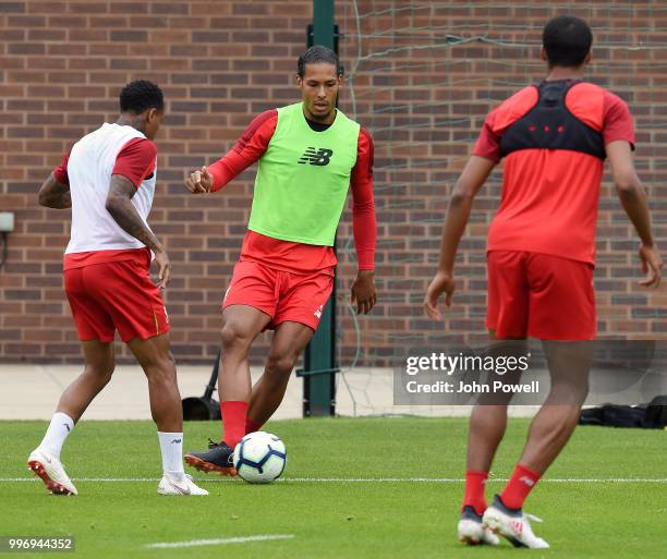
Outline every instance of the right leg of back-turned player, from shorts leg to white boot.
[[539, 548], [548, 544], [532, 533], [522, 507], [577, 426], [589, 390], [595, 300], [593, 268], [585, 263], [533, 254], [527, 259], [527, 276], [529, 333], [553, 340], [543, 342], [551, 387], [533, 418], [510, 481], [488, 509], [488, 525], [514, 545]]

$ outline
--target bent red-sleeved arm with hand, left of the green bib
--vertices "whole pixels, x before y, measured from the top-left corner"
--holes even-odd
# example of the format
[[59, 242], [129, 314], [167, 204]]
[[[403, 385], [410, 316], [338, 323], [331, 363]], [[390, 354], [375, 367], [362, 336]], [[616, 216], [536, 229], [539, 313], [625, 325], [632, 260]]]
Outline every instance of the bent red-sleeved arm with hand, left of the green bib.
[[264, 111], [245, 129], [225, 157], [210, 166], [191, 171], [185, 187], [193, 194], [217, 192], [256, 162], [266, 151], [278, 123], [278, 112]]

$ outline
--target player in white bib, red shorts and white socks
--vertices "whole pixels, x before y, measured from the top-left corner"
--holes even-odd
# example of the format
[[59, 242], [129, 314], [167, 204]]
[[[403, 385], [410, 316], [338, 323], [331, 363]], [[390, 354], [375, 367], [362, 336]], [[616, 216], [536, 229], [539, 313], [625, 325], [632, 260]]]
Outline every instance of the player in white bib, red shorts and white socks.
[[[183, 411], [169, 323], [160, 294], [171, 265], [147, 218], [156, 186], [153, 143], [165, 113], [160, 88], [143, 80], [120, 94], [121, 114], [81, 138], [39, 190], [39, 204], [72, 208], [64, 284], [81, 339], [85, 369], [63, 392], [28, 466], [56, 495], [76, 495], [60, 451], [114, 368], [119, 331], [148, 379], [150, 411], [162, 453], [160, 495], [208, 495], [183, 471]], [[149, 275], [151, 253], [159, 283]]]

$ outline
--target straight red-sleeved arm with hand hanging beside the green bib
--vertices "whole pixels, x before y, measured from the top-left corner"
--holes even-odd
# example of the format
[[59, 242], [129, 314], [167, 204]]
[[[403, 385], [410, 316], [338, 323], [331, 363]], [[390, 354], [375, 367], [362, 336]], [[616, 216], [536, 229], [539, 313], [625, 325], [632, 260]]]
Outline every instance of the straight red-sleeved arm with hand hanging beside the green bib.
[[350, 301], [353, 304], [356, 303], [357, 313], [368, 314], [377, 303], [377, 291], [373, 281], [377, 223], [373, 197], [373, 138], [364, 129], [359, 135], [356, 163], [352, 169], [350, 186], [352, 190], [352, 229], [359, 263]]

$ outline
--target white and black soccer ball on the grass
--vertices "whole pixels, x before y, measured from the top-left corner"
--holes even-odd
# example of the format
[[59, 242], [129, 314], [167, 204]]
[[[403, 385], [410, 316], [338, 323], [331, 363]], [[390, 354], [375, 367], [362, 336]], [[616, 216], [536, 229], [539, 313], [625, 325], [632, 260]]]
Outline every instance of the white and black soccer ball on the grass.
[[284, 442], [263, 430], [247, 434], [234, 449], [234, 467], [251, 484], [268, 484], [277, 479], [286, 462]]

